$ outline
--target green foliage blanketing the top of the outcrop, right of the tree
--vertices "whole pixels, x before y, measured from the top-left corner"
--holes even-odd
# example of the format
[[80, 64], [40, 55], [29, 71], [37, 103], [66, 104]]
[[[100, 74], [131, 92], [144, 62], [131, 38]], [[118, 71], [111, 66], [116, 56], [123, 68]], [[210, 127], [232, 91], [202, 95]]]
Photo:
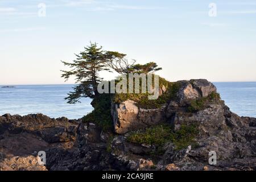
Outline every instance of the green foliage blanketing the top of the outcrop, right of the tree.
[[[154, 80], [154, 77], [152, 77]], [[153, 82], [154, 85], [154, 82]], [[169, 82], [162, 77], [159, 77], [159, 88], [164, 86], [167, 91], [164, 92], [157, 100], [148, 100], [149, 93], [120, 93], [115, 94], [113, 101], [120, 104], [126, 100], [133, 100], [137, 105], [143, 109], [156, 109], [166, 104], [170, 100], [176, 99], [176, 94], [180, 88], [179, 82]], [[141, 82], [140, 82], [141, 87]]]

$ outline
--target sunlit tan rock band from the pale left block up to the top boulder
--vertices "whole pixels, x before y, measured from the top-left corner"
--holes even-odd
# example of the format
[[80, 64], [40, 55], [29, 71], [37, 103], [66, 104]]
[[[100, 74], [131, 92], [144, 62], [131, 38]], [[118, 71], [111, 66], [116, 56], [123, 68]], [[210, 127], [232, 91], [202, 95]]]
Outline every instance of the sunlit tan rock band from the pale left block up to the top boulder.
[[183, 80], [178, 81], [178, 84], [180, 88], [177, 92], [177, 99], [168, 101], [158, 109], [142, 109], [131, 100], [124, 101], [121, 104], [112, 104], [115, 132], [124, 134], [127, 131], [166, 122], [171, 119], [173, 113], [170, 113], [170, 110], [173, 107], [187, 106], [192, 100], [207, 97], [210, 93], [217, 92], [216, 86], [203, 79]]

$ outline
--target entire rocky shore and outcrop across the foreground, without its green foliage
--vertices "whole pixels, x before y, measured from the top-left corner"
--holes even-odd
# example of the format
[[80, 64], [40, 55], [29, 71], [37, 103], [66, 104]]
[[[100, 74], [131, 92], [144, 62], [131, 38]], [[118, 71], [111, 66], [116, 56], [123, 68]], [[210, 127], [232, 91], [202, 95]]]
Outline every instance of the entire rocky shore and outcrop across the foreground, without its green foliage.
[[[179, 84], [176, 99], [157, 109], [113, 103], [113, 132], [81, 119], [2, 115], [0, 170], [255, 170], [256, 118], [239, 117], [224, 101], [207, 101], [217, 92], [207, 80]], [[191, 107], [196, 100], [200, 107]], [[174, 134], [195, 125], [195, 138], [167, 141], [161, 152], [154, 143], [137, 142], [147, 127], [166, 124]], [[38, 163], [38, 151], [46, 151], [46, 166]], [[210, 151], [216, 151], [215, 165]]]

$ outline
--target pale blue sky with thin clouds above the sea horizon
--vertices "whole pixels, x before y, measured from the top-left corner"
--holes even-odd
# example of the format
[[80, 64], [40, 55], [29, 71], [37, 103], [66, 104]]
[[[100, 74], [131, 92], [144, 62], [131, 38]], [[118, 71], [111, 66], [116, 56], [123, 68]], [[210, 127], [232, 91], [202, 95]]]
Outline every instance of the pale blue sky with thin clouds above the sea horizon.
[[0, 85], [72, 84], [60, 60], [90, 41], [170, 81], [256, 81], [256, 0], [0, 0]]

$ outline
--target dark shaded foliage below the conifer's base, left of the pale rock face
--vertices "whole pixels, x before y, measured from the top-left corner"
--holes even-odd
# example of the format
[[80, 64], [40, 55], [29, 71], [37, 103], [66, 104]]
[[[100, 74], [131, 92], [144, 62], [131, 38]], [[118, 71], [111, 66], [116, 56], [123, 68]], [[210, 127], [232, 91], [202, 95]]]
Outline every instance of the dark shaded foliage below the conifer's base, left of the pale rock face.
[[104, 131], [113, 130], [111, 116], [111, 94], [98, 94], [92, 101], [94, 110], [82, 118], [83, 122], [92, 122]]

